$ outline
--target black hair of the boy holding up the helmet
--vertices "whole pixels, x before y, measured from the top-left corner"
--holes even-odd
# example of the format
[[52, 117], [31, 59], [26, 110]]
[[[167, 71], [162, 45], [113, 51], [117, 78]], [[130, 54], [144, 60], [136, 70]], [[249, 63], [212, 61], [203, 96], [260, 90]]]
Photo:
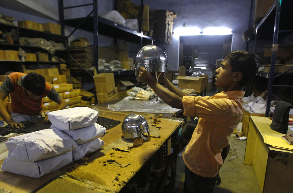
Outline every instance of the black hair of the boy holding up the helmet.
[[253, 52], [235, 50], [228, 52], [224, 60], [232, 66], [232, 72], [241, 72], [242, 79], [239, 85], [245, 86], [259, 70], [259, 56]]

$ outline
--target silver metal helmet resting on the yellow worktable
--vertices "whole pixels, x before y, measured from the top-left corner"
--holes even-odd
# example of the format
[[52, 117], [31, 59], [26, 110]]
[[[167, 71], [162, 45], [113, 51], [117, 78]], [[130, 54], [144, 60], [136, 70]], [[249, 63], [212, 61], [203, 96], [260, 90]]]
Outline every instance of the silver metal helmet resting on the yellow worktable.
[[[147, 120], [137, 114], [129, 114], [122, 121], [122, 135], [125, 139], [132, 139], [136, 137], [141, 137], [144, 140], [150, 140], [150, 128], [147, 124]], [[147, 133], [148, 136], [145, 137], [143, 133]]]

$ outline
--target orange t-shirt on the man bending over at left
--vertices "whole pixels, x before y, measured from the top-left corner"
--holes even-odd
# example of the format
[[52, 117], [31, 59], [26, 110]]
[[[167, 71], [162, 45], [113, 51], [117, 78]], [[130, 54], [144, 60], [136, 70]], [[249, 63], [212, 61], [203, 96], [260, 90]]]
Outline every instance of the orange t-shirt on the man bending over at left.
[[13, 72], [7, 76], [14, 86], [12, 92], [10, 93], [12, 112], [30, 116], [38, 115], [42, 112], [43, 108], [42, 98], [49, 95], [52, 90], [52, 86], [46, 82], [45, 91], [39, 99], [27, 96], [24, 93], [24, 89], [22, 89], [20, 81], [20, 77], [23, 75], [26, 74], [21, 72]]

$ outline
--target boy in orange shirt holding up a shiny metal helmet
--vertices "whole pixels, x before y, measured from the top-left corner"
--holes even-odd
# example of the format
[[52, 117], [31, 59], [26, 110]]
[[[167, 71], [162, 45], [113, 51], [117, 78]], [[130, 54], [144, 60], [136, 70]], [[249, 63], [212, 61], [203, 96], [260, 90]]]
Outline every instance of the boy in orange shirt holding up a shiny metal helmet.
[[214, 192], [219, 168], [223, 165], [222, 148], [243, 116], [242, 98], [245, 86], [259, 68], [255, 53], [232, 51], [227, 53], [221, 67], [216, 69], [215, 84], [223, 92], [214, 96], [186, 96], [168, 79], [161, 78], [165, 89], [143, 67], [138, 77], [173, 108], [183, 109], [186, 116], [200, 117], [191, 140], [183, 153], [185, 162], [184, 193]]

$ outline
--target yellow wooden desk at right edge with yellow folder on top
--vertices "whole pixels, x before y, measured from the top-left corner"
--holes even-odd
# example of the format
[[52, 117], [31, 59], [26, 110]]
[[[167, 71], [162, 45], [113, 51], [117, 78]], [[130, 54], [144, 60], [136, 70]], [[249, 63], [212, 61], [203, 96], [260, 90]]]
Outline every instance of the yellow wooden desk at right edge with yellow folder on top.
[[293, 145], [270, 129], [271, 123], [267, 117], [250, 117], [244, 164], [252, 165], [261, 192], [292, 192]]

